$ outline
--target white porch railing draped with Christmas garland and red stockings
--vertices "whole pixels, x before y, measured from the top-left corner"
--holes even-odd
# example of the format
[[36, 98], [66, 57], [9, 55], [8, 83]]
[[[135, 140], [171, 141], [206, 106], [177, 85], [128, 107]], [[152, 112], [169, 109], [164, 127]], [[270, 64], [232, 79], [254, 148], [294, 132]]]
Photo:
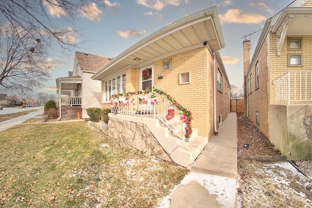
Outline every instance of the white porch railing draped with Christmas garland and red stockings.
[[157, 118], [173, 134], [187, 142], [192, 134], [192, 113], [158, 89], [113, 95], [111, 112]]

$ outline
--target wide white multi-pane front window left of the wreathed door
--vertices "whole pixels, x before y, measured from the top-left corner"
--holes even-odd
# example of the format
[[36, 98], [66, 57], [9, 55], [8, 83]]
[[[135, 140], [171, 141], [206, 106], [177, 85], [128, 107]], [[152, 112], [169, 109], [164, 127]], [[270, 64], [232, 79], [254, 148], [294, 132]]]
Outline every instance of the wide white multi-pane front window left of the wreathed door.
[[104, 82], [104, 102], [111, 100], [111, 95], [126, 91], [126, 74], [114, 77], [111, 80]]

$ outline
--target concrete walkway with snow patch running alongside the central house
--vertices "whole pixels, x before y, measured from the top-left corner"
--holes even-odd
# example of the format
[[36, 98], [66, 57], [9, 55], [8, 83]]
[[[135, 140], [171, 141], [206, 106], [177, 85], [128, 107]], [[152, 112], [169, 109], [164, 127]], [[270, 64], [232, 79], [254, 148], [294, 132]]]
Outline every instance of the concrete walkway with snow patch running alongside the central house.
[[161, 208], [236, 208], [236, 113], [218, 128], [191, 171]]

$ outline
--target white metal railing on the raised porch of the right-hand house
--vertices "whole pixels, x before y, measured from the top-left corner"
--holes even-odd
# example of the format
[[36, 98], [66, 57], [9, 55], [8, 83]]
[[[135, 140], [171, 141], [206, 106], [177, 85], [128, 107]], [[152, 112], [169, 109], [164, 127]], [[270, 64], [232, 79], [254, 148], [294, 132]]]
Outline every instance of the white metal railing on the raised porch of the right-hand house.
[[288, 71], [274, 82], [276, 104], [312, 101], [312, 71]]

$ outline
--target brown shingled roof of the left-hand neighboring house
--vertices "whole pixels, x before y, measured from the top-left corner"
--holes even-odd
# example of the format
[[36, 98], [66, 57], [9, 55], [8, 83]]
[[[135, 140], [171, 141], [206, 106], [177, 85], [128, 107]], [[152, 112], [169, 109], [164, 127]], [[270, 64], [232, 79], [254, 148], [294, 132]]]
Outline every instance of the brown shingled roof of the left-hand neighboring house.
[[93, 54], [83, 53], [76, 51], [76, 56], [81, 70], [97, 72], [100, 68], [110, 62], [108, 59]]

